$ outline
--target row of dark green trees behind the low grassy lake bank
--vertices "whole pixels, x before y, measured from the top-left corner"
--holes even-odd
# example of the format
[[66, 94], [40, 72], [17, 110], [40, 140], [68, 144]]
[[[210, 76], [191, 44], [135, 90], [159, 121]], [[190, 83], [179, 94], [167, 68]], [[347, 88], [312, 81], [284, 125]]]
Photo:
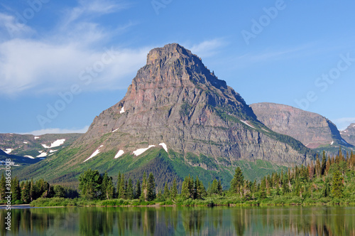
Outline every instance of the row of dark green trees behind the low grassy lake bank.
[[[79, 176], [80, 197], [87, 200], [109, 200], [121, 198], [127, 200], [141, 201], [165, 201], [197, 199], [203, 200], [215, 195], [229, 195], [241, 200], [265, 200], [273, 199], [276, 196], [298, 199], [353, 199], [355, 185], [352, 179], [355, 178], [355, 154], [342, 154], [342, 149], [336, 156], [322, 154], [322, 159], [317, 155], [315, 161], [307, 165], [288, 168], [287, 171], [274, 172], [264, 176], [260, 182], [249, 181], [244, 178], [241, 168], [237, 167], [230, 182], [230, 188], [223, 190], [221, 180], [214, 179], [206, 190], [202, 181], [196, 176], [186, 176], [182, 182], [180, 194], [178, 193], [177, 180], [173, 184], [165, 182], [163, 188], [155, 184], [153, 173], [146, 172], [140, 179], [133, 183], [133, 180], [126, 179], [124, 173], [119, 173], [117, 183], [107, 172], [99, 173], [89, 169]], [[0, 200], [4, 200], [6, 192], [6, 178], [4, 174], [0, 179]], [[30, 203], [37, 198], [74, 198], [79, 194], [68, 188], [55, 185], [40, 179], [38, 181], [18, 181], [18, 178], [11, 179], [12, 200], [18, 203]], [[355, 200], [355, 197], [354, 199]]]

